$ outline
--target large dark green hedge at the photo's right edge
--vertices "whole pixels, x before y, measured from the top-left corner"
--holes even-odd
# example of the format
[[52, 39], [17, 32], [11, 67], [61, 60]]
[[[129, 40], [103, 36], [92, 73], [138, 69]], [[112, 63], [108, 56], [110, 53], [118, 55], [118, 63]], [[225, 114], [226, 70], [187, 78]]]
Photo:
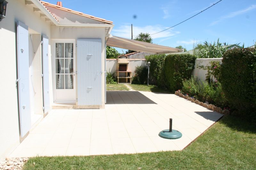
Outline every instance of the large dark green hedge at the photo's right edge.
[[256, 115], [254, 64], [255, 48], [227, 50], [220, 67], [222, 90], [231, 107], [239, 113]]

